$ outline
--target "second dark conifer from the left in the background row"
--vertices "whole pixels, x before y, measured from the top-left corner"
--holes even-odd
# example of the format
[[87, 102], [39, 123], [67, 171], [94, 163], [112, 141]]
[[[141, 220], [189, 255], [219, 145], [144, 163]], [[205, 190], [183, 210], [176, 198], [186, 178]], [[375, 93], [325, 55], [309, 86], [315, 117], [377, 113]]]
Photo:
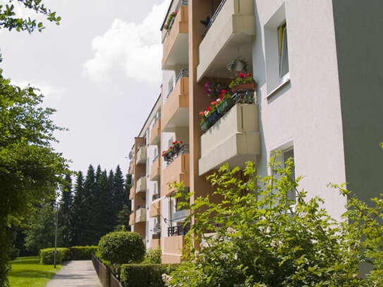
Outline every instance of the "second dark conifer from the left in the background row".
[[81, 171], [78, 172], [75, 183], [75, 195], [73, 197], [73, 207], [71, 216], [72, 245], [81, 245], [83, 238], [83, 216], [84, 209], [84, 176]]

